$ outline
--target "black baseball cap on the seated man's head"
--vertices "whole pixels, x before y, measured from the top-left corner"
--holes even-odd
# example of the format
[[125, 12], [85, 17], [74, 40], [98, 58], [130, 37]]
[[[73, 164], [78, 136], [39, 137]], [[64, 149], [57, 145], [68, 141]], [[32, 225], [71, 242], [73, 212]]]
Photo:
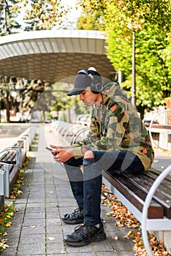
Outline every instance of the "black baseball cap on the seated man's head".
[[83, 69], [80, 70], [77, 73], [77, 76], [75, 78], [75, 87], [69, 91], [67, 94], [68, 96], [77, 95], [80, 94], [82, 91], [84, 91], [88, 86], [91, 86], [91, 83], [94, 82], [94, 78], [96, 77], [96, 80], [99, 80], [99, 83], [101, 83], [102, 78], [99, 75], [98, 72], [96, 72], [96, 69], [89, 68], [89, 69]]

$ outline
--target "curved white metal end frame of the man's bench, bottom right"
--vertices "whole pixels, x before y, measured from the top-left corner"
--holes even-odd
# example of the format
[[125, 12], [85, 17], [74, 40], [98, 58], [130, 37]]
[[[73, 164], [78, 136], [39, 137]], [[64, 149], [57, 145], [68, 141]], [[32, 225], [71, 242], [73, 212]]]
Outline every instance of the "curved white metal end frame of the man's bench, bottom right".
[[[152, 197], [154, 193], [156, 192], [156, 189], [159, 187], [159, 184], [161, 181], [164, 180], [164, 178], [171, 173], [171, 165], [168, 166], [160, 175], [158, 178], [156, 178], [156, 181], [153, 182], [153, 185], [151, 186], [151, 189], [148, 192], [147, 197], [145, 198], [145, 204], [142, 209], [142, 239], [144, 241], [145, 249], [148, 253], [148, 256], [153, 256], [153, 253], [151, 252], [151, 246], [148, 242], [148, 222], [150, 222], [150, 219], [148, 219], [148, 207], [150, 206]], [[155, 222], [155, 219], [153, 219], [153, 222]], [[168, 220], [168, 225], [170, 223], [170, 220]], [[156, 225], [157, 225], [157, 219], [156, 219]], [[170, 227], [171, 230], [171, 227]]]

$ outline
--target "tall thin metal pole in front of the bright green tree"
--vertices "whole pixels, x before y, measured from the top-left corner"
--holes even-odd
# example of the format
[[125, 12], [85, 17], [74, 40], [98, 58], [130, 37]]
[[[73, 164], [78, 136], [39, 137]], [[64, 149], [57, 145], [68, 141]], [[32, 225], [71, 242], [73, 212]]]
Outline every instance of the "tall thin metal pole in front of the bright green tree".
[[135, 31], [132, 31], [132, 105], [136, 109], [136, 80], [135, 80]]

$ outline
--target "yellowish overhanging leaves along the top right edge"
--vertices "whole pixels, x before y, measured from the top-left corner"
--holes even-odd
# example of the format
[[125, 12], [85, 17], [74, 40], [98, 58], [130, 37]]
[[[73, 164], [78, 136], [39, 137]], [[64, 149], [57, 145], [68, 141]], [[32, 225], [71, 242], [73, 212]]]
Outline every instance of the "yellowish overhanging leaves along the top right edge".
[[[132, 26], [141, 29], [147, 24], [156, 24], [162, 31], [170, 31], [170, 0], [78, 0], [83, 12], [101, 12], [106, 23], [121, 23], [123, 29]], [[110, 8], [114, 8], [110, 11]]]

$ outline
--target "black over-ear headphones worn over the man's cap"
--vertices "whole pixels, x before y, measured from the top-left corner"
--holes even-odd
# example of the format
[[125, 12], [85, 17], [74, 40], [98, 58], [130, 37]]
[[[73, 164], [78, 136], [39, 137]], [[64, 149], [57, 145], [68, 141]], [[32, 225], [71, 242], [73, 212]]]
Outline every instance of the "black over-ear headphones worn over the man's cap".
[[[94, 72], [94, 70], [92, 70], [92, 72]], [[90, 73], [90, 70], [86, 70], [86, 69], [82, 69], [80, 70], [77, 75], [80, 75], [80, 74], [84, 74], [84, 75], [88, 75], [89, 78], [91, 78], [92, 82], [91, 82], [91, 91], [94, 93], [94, 94], [100, 94], [102, 91], [103, 91], [103, 85], [102, 83], [100, 83], [98, 80], [96, 80], [94, 78], [94, 76], [99, 76], [100, 78], [100, 75], [96, 75], [97, 72], [94, 72], [94, 75], [92, 75]], [[97, 73], [98, 74], [98, 73]]]

